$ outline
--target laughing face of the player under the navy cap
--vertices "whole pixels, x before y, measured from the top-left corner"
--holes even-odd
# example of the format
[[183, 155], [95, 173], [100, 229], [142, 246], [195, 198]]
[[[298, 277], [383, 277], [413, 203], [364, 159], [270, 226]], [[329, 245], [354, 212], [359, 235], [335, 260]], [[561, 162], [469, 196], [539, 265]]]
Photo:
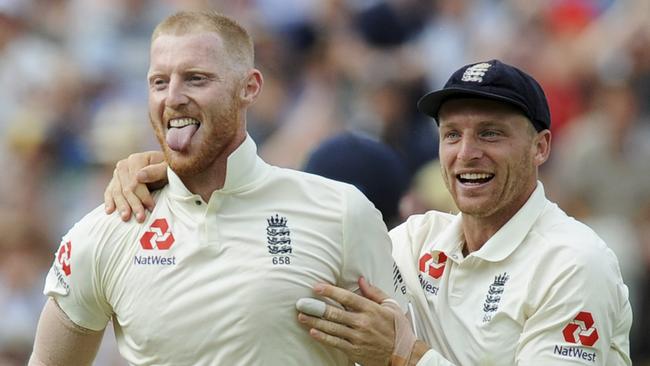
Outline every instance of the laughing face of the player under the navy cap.
[[535, 189], [550, 132], [537, 133], [514, 107], [486, 99], [449, 100], [439, 122], [442, 174], [456, 205], [505, 223]]

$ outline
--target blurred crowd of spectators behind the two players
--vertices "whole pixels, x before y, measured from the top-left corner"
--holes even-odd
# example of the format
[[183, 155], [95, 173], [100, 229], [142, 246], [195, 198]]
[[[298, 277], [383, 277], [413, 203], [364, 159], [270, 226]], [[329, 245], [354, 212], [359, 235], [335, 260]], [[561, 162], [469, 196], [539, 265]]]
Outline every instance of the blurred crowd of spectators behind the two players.
[[[357, 184], [389, 227], [454, 211], [418, 98], [476, 61], [532, 74], [553, 121], [541, 179], [618, 255], [633, 360], [650, 365], [647, 0], [0, 0], [0, 365], [26, 362], [60, 237], [101, 203], [117, 160], [157, 148], [153, 27], [201, 7], [255, 39], [265, 85], [248, 127], [261, 156]], [[97, 365], [123, 364], [112, 338]]]

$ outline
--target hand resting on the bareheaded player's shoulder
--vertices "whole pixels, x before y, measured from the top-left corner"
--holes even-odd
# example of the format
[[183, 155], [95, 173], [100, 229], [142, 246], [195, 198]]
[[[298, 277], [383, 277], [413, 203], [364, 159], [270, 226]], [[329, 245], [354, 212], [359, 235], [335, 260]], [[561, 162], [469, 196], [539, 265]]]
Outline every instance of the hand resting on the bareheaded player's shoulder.
[[145, 208], [153, 210], [154, 201], [150, 189], [167, 184], [167, 163], [160, 151], [131, 154], [117, 162], [113, 178], [104, 191], [104, 207], [107, 214], [115, 209], [123, 221], [135, 214], [138, 222], [144, 222]]

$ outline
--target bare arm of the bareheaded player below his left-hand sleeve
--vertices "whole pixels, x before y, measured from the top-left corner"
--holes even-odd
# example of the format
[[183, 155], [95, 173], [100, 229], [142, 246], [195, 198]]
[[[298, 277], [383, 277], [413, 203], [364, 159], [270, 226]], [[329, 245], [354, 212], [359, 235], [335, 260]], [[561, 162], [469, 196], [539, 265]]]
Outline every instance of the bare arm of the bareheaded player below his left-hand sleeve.
[[76, 325], [49, 298], [38, 321], [29, 366], [91, 365], [103, 334]]

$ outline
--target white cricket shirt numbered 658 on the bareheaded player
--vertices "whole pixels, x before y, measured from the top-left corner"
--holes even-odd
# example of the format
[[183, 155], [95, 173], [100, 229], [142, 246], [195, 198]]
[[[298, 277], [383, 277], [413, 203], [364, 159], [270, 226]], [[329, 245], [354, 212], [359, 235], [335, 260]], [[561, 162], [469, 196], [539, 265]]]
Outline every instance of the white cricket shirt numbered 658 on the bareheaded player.
[[95, 209], [63, 237], [45, 294], [82, 327], [113, 318], [134, 365], [349, 364], [295, 302], [364, 275], [404, 304], [380, 213], [351, 185], [266, 164], [250, 137], [227, 169], [207, 203], [170, 170], [144, 224]]

